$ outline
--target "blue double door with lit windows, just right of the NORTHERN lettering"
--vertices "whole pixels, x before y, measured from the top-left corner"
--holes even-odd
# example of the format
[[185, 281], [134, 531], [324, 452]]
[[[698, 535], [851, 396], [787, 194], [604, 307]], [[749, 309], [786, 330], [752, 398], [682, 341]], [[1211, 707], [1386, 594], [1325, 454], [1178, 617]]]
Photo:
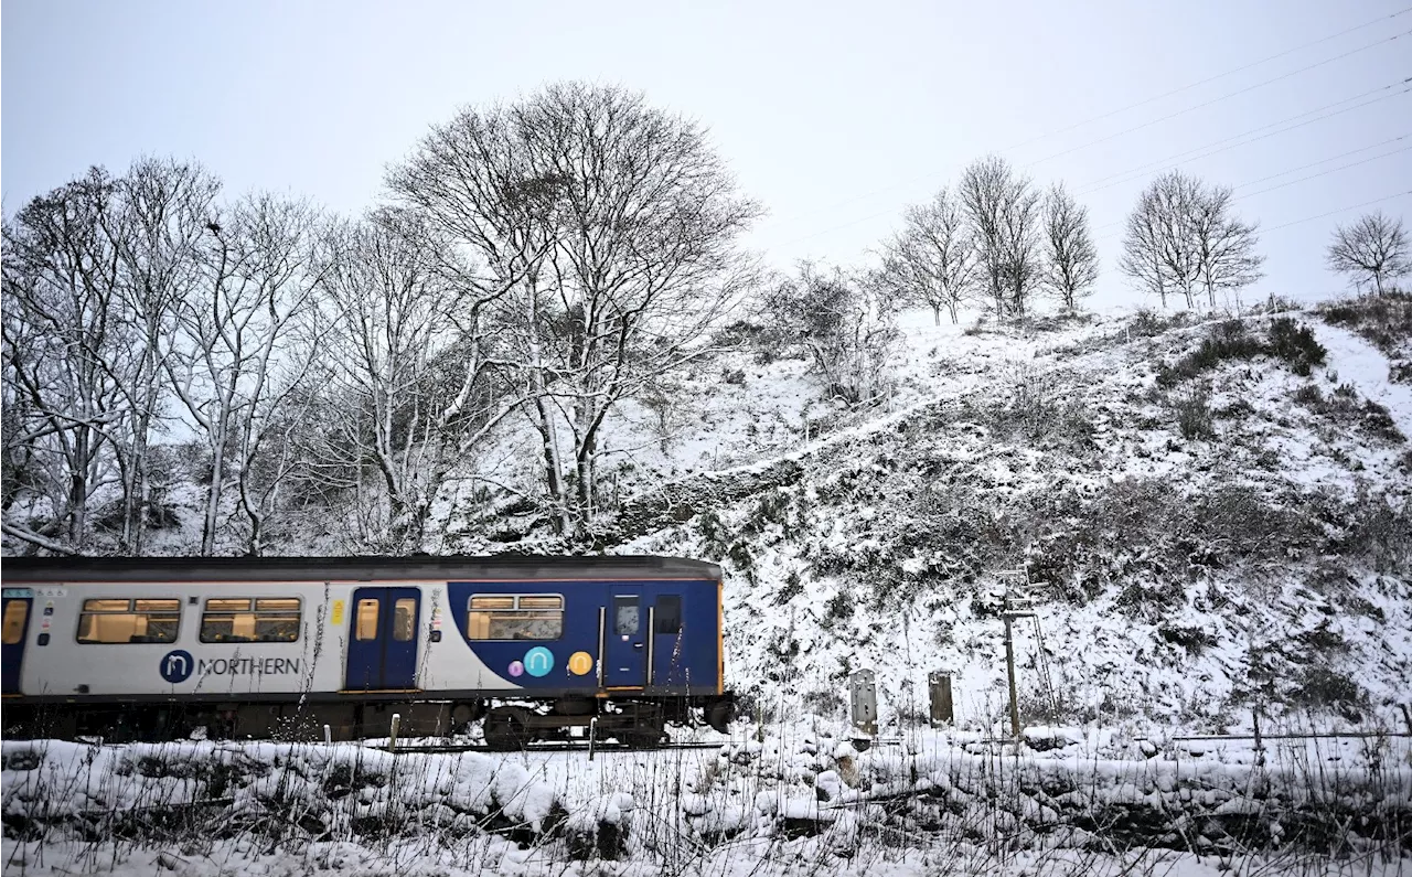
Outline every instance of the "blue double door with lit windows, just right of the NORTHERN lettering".
[[359, 587], [349, 619], [347, 691], [417, 688], [417, 631], [422, 592]]

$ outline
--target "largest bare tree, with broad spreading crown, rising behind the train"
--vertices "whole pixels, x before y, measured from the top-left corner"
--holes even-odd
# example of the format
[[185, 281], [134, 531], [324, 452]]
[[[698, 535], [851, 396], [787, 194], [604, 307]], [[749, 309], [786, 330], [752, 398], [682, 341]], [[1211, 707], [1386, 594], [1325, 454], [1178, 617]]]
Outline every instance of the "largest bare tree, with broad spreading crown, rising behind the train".
[[476, 288], [496, 301], [530, 397], [548, 503], [561, 530], [583, 532], [604, 419], [702, 354], [753, 278], [736, 240], [758, 208], [700, 126], [582, 83], [462, 112], [390, 185], [490, 278]]

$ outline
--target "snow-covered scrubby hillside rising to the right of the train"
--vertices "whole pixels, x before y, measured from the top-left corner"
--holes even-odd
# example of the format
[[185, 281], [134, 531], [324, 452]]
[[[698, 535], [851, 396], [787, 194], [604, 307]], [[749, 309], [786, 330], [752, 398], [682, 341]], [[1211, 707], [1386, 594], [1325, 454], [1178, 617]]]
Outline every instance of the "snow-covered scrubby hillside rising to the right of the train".
[[[842, 710], [847, 675], [871, 668], [899, 720], [942, 669], [959, 720], [995, 727], [1014, 583], [997, 573], [1028, 568], [1045, 597], [1038, 628], [1017, 627], [1031, 720], [1224, 730], [1261, 705], [1401, 726], [1406, 387], [1310, 314], [1161, 323], [976, 332], [914, 315], [895, 393], [832, 424], [820, 411], [822, 435], [802, 429], [798, 362], [754, 366], [744, 388], [702, 378], [720, 410], [789, 426], [743, 453], [738, 422], [707, 414], [682, 446], [714, 436], [722, 467], [788, 456], [799, 475], [616, 551], [726, 563], [727, 672], [767, 712]], [[1276, 335], [1299, 328], [1324, 362], [1262, 350], [1298, 347]], [[1193, 366], [1203, 346], [1214, 362]], [[693, 477], [685, 458], [652, 466]]]

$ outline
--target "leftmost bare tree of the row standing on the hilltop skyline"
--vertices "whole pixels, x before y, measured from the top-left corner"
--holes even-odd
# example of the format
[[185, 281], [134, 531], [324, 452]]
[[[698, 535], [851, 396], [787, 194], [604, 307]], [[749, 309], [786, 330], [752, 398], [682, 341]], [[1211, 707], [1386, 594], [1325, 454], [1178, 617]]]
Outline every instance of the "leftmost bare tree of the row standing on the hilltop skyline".
[[902, 219], [902, 230], [884, 244], [875, 280], [895, 301], [932, 308], [936, 325], [942, 308], [955, 323], [976, 280], [976, 246], [960, 199], [942, 188], [929, 203], [908, 208]]

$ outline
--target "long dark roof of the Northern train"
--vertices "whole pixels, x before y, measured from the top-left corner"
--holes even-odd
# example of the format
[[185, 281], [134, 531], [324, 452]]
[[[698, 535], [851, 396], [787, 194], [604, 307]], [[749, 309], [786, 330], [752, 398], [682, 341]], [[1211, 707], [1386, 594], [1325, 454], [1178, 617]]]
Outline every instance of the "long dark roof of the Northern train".
[[657, 555], [342, 558], [0, 558], [0, 582], [720, 579], [716, 563]]

